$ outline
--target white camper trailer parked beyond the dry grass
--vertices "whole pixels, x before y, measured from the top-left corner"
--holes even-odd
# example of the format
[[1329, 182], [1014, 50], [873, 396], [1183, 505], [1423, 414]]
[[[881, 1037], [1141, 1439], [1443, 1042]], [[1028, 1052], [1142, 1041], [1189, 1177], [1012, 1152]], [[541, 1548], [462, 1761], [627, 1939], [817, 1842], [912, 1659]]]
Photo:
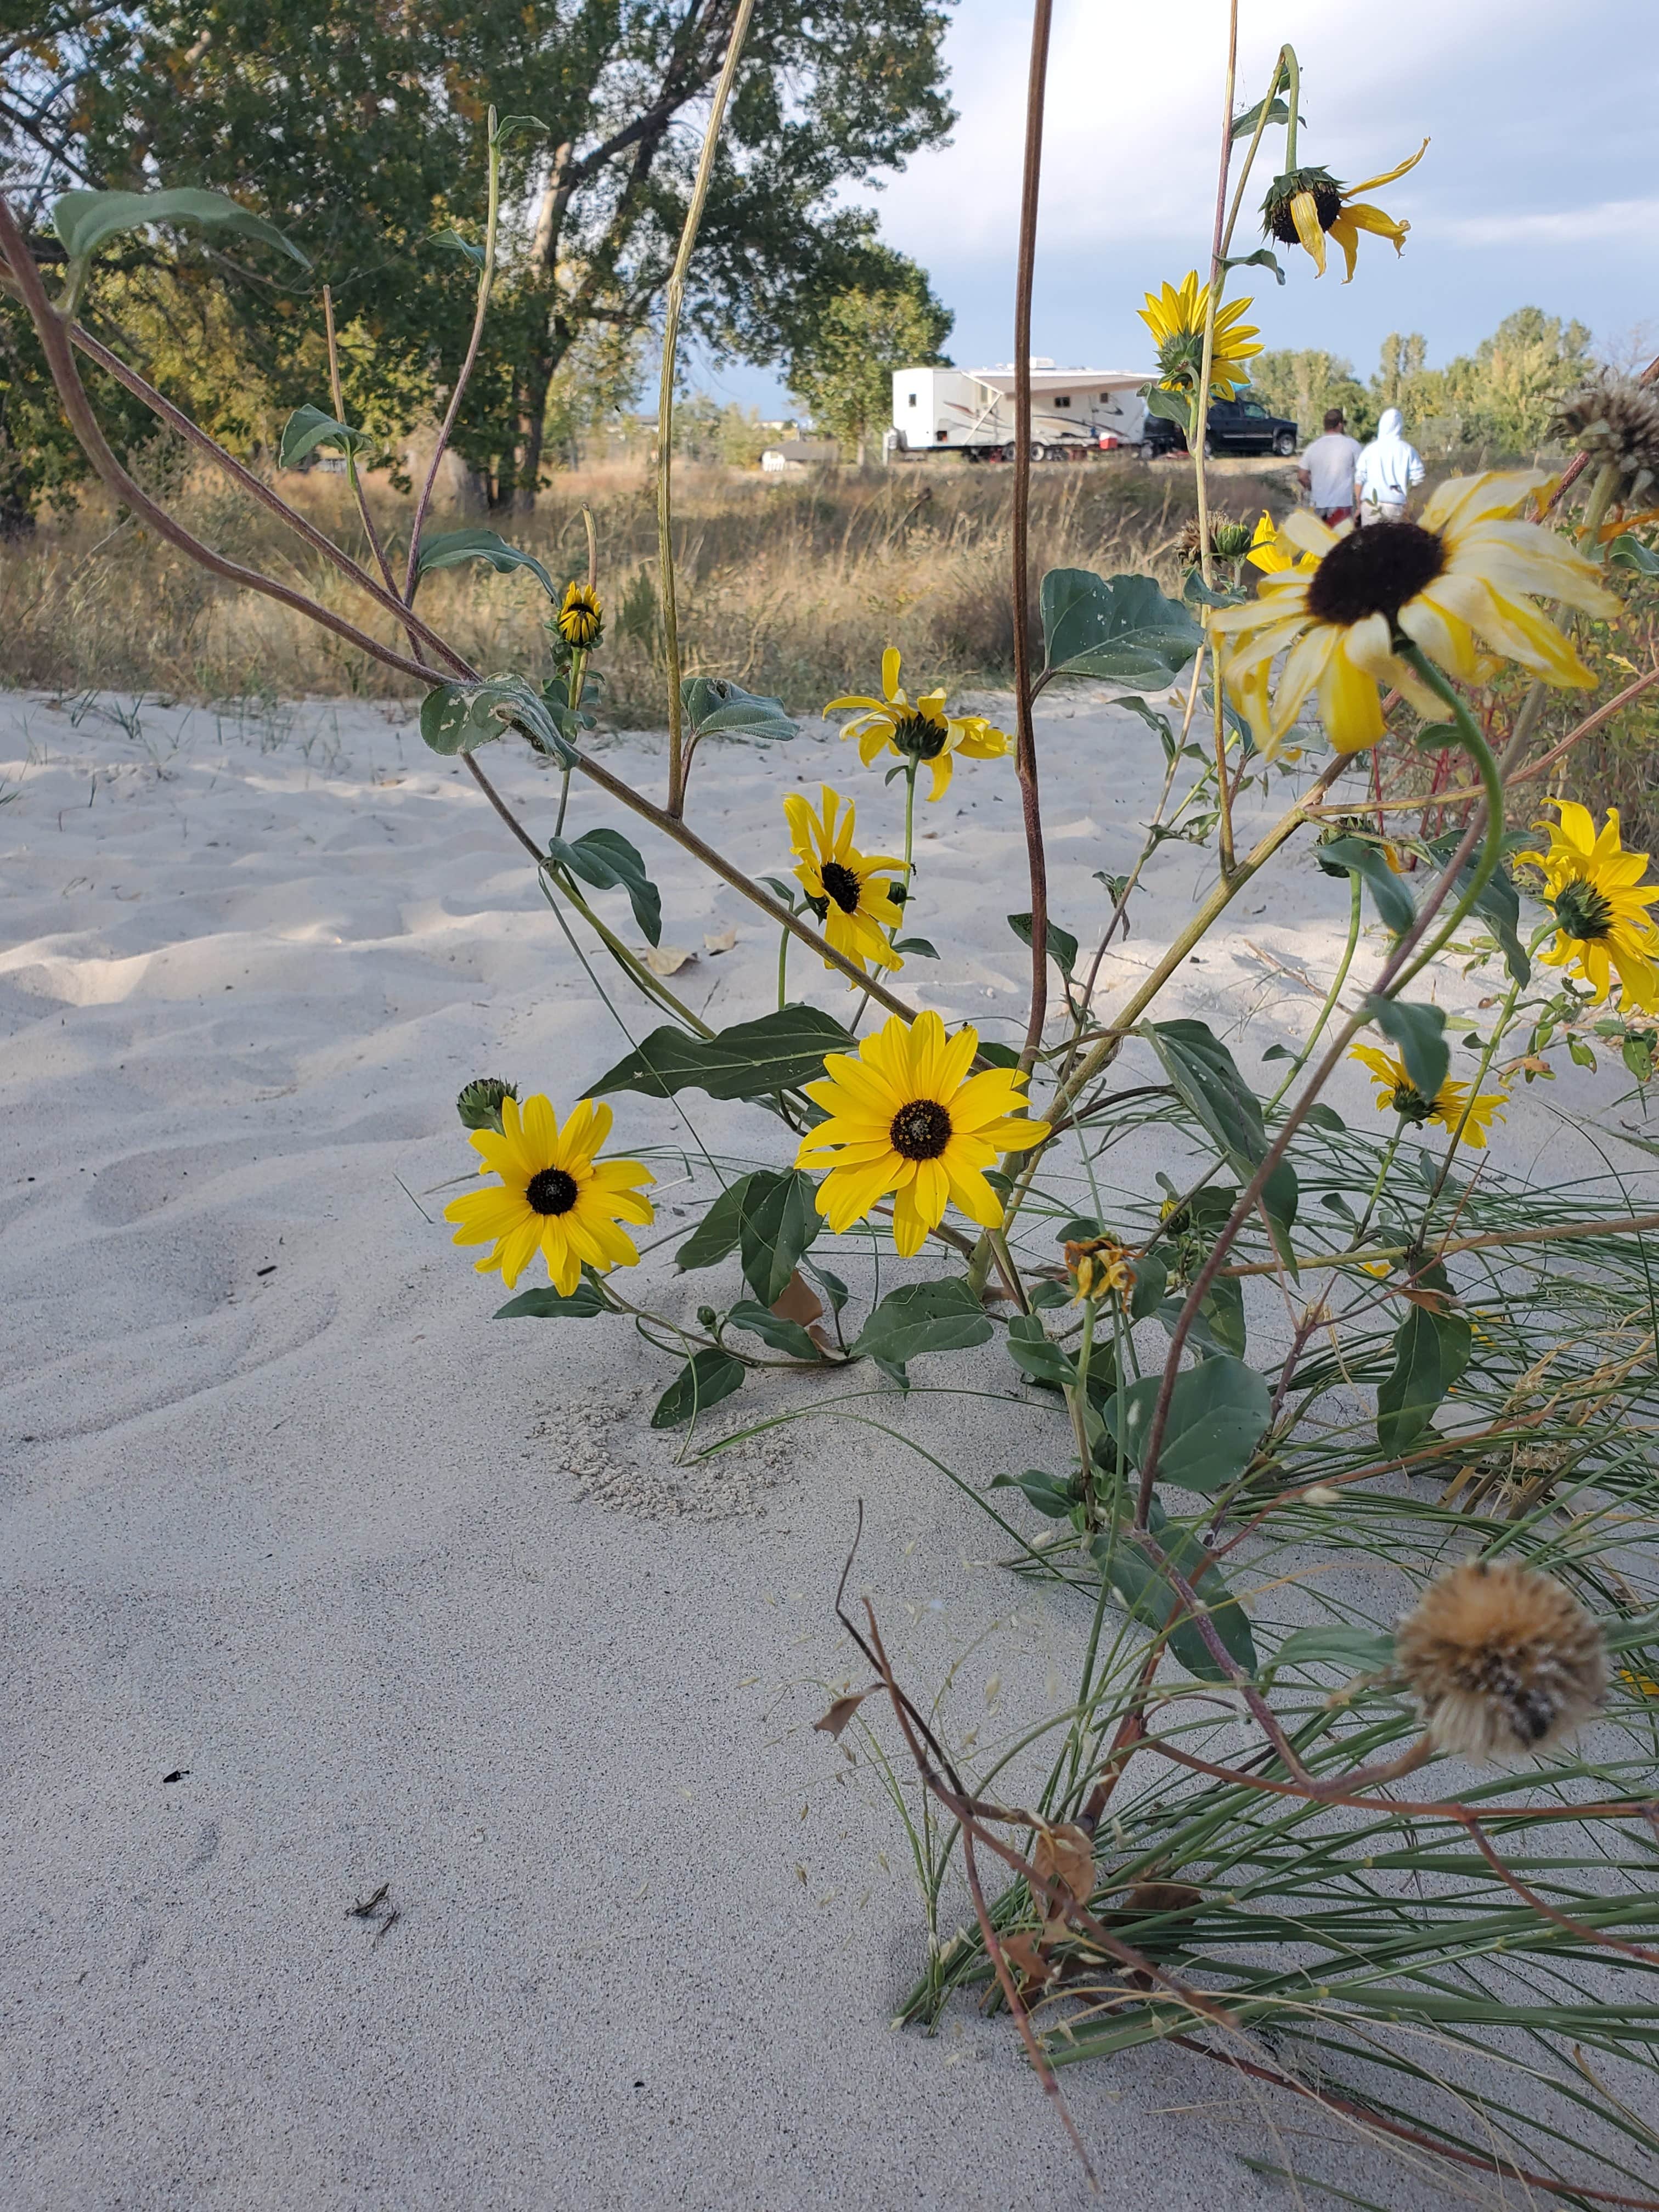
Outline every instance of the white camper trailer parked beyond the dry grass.
[[[1057, 369], [1031, 363], [1031, 458], [1082, 460], [1137, 447], [1148, 369]], [[967, 453], [1013, 460], [1013, 369], [894, 369], [891, 447], [900, 453]]]

